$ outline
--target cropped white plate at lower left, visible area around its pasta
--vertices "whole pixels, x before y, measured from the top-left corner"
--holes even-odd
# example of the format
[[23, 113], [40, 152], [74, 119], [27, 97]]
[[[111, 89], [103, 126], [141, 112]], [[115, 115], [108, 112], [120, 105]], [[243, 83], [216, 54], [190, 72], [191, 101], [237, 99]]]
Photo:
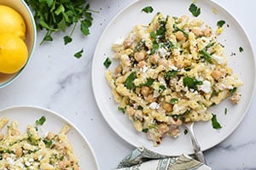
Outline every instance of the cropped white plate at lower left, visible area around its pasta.
[[79, 160], [80, 169], [98, 169], [96, 157], [87, 139], [84, 138], [77, 127], [54, 111], [33, 106], [15, 106], [0, 111], [0, 116], [9, 118], [9, 121], [18, 121], [21, 133], [26, 132], [28, 124], [33, 125], [41, 116], [45, 116], [46, 122], [38, 130], [40, 136], [49, 131], [58, 133], [63, 125], [68, 124], [71, 126], [71, 129], [67, 133], [67, 139], [73, 145], [74, 154]]

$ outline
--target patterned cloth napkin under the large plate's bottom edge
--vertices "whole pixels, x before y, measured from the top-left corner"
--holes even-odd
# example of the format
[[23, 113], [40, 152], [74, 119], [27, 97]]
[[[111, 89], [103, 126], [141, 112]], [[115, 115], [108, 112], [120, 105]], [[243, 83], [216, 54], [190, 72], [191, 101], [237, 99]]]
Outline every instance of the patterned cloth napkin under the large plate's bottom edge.
[[117, 170], [212, 170], [190, 156], [162, 156], [144, 147], [138, 147], [126, 156]]

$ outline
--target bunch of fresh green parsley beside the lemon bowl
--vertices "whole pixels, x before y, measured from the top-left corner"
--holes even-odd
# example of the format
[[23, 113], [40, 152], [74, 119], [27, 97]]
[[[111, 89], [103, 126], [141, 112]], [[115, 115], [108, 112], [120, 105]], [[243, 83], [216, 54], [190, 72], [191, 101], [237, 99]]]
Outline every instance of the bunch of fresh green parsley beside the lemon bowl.
[[84, 36], [90, 34], [89, 27], [93, 18], [90, 4], [86, 3], [86, 0], [25, 0], [25, 2], [34, 12], [37, 27], [47, 31], [40, 44], [53, 41], [54, 32], [65, 32], [68, 26], [73, 25], [69, 35], [63, 37], [65, 45], [72, 42], [73, 31], [78, 23]]

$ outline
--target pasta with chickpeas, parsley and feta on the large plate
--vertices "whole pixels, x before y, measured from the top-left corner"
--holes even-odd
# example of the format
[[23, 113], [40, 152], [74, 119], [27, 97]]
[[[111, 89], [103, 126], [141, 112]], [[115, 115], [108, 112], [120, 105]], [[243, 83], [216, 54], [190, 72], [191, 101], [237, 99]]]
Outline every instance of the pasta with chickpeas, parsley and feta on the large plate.
[[183, 122], [212, 120], [212, 105], [241, 98], [242, 82], [228, 66], [224, 46], [198, 18], [158, 13], [112, 49], [119, 60], [106, 72], [113, 97], [154, 145], [166, 135], [177, 137]]

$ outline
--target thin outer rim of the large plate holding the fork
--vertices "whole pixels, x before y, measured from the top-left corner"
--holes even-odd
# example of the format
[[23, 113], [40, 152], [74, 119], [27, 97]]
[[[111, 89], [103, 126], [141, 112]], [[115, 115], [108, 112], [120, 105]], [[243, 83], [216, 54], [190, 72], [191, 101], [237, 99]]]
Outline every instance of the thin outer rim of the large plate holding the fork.
[[[140, 3], [140, 2], [141, 2], [140, 0], [136, 0], [136, 1], [131, 2], [131, 3], [129, 3], [128, 5], [126, 5], [125, 8], [121, 8], [121, 9], [119, 10], [119, 12], [113, 16], [113, 19], [109, 21], [108, 25], [107, 25], [107, 26], [105, 27], [105, 29], [102, 31], [102, 35], [101, 35], [101, 37], [98, 39], [98, 41], [97, 41], [97, 43], [96, 43], [96, 48], [95, 48], [95, 52], [94, 52], [94, 54], [93, 54], [93, 59], [92, 59], [92, 64], [91, 64], [91, 74], [90, 74], [90, 76], [91, 76], [91, 86], [92, 86], [92, 91], [93, 91], [94, 99], [96, 100], [96, 105], [97, 105], [99, 111], [101, 112], [101, 115], [103, 116], [105, 122], [108, 123], [108, 126], [112, 128], [113, 132], [116, 133], [116, 134], [119, 136], [119, 138], [123, 139], [127, 144], [131, 144], [132, 146], [135, 146], [135, 147], [139, 147], [139, 146], [136, 145], [136, 144], [134, 144], [134, 142], [131, 142], [131, 141], [127, 140], [127, 138], [125, 138], [123, 135], [120, 135], [118, 132], [116, 132], [116, 130], [114, 129], [113, 125], [111, 125], [110, 122], [108, 121], [107, 115], [103, 113], [102, 107], [100, 107], [100, 105], [98, 105], [98, 103], [100, 102], [100, 100], [96, 97], [96, 88], [95, 88], [96, 80], [95, 80], [95, 78], [94, 78], [94, 75], [95, 75], [95, 72], [96, 72], [96, 71], [95, 71], [95, 69], [93, 69], [93, 68], [94, 68], [94, 65], [96, 65], [96, 64], [95, 64], [95, 63], [96, 63], [96, 53], [97, 53], [98, 49], [100, 48], [100, 43], [101, 43], [101, 41], [102, 41], [102, 38], [105, 36], [106, 32], [108, 31], [109, 26], [111, 26], [111, 25], [114, 23], [114, 21], [119, 17], [119, 15], [122, 14], [122, 13], [124, 13], [125, 10], [127, 10], [127, 8], [131, 8], [132, 5], [135, 5], [136, 3]], [[201, 1], [201, 2], [203, 2], [203, 1]], [[192, 2], [191, 2], [191, 3], [192, 3]], [[241, 25], [240, 21], [237, 20], [237, 18], [230, 12], [230, 10], [228, 10], [227, 8], [224, 8], [223, 5], [221, 5], [221, 4], [219, 4], [218, 2], [215, 2], [215, 1], [213, 1], [213, 0], [208, 0], [207, 3], [212, 3], [213, 5], [216, 5], [218, 8], [221, 8], [222, 10], [224, 10], [225, 13], [230, 14], [231, 19], [232, 19], [232, 20], [235, 20], [236, 24], [240, 27], [242, 33], [244, 33], [244, 35], [245, 35], [245, 39], [246, 39], [247, 42], [248, 42], [248, 48], [249, 48], [250, 52], [252, 53], [252, 56], [251, 56], [251, 57], [252, 57], [252, 59], [253, 59], [253, 61], [254, 61], [254, 63], [253, 63], [253, 66], [254, 66], [253, 74], [256, 75], [256, 64], [255, 64], [256, 59], [255, 59], [255, 54], [254, 54], [254, 51], [253, 51], [251, 39], [250, 39], [250, 38], [248, 37], [248, 35], [247, 35], [247, 31], [246, 31], [246, 30], [244, 29], [244, 27]], [[231, 129], [231, 130], [230, 130], [230, 133], [226, 133], [226, 134], [224, 135], [224, 138], [221, 139], [217, 144], [213, 144], [212, 146], [208, 146], [208, 147], [204, 148], [202, 151], [209, 150], [209, 149], [213, 148], [214, 146], [216, 146], [216, 145], [218, 145], [218, 144], [224, 142], [224, 140], [225, 140], [225, 139], [228, 139], [228, 138], [230, 137], [230, 135], [231, 135], [232, 133], [234, 133], [234, 132], [236, 131], [236, 129], [241, 125], [241, 122], [244, 120], [245, 116], [247, 115], [247, 112], [248, 112], [248, 111], [250, 110], [250, 108], [252, 107], [254, 95], [255, 95], [255, 93], [256, 93], [256, 87], [255, 87], [255, 85], [256, 85], [256, 78], [255, 78], [255, 77], [254, 77], [254, 79], [253, 79], [253, 81], [252, 81], [252, 85], [253, 85], [253, 89], [252, 89], [253, 93], [252, 93], [252, 96], [251, 96], [251, 98], [249, 99], [249, 102], [248, 102], [248, 105], [247, 105], [247, 107], [246, 107], [246, 110], [244, 111], [244, 114], [241, 115], [241, 119], [239, 119], [239, 121], [236, 122], [236, 126], [230, 128], [230, 129]], [[150, 148], [148, 148], [148, 149], [150, 150]], [[155, 151], [155, 150], [154, 150], [154, 151]], [[155, 152], [158, 152], [158, 151], [155, 151]], [[158, 153], [160, 153], [160, 152], [158, 152]], [[160, 153], [160, 154], [162, 154], [162, 153]], [[187, 153], [187, 154], [193, 154], [193, 153], [192, 153], [192, 152], [191, 152], [191, 153], [189, 152], [189, 153]], [[169, 156], [177, 156], [177, 155], [169, 155]]]

